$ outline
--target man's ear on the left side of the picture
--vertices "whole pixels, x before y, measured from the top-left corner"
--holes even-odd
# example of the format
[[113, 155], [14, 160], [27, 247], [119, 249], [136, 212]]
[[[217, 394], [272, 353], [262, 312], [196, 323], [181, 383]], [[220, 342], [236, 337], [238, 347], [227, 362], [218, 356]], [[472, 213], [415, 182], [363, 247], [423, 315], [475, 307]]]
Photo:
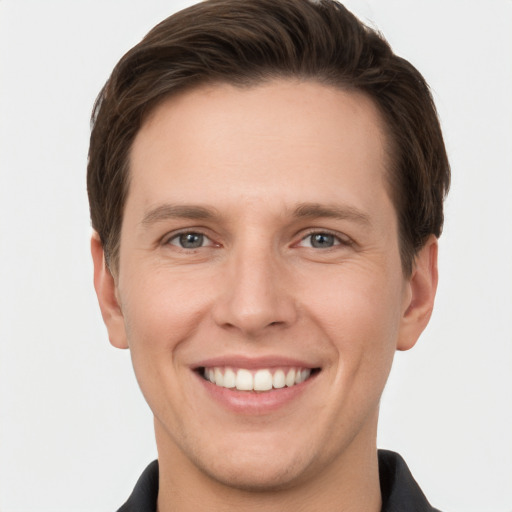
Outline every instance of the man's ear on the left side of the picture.
[[94, 289], [98, 297], [101, 316], [107, 326], [110, 343], [117, 348], [128, 348], [124, 317], [117, 297], [117, 287], [107, 263], [98, 233], [91, 237], [94, 264]]

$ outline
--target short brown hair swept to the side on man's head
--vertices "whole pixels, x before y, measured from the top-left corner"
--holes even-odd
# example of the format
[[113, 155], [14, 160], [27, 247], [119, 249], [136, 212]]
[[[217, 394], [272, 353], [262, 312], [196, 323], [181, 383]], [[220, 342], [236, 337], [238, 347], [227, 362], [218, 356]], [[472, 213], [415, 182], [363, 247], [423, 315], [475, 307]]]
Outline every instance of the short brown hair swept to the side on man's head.
[[428, 236], [441, 234], [450, 182], [436, 109], [421, 74], [332, 0], [207, 0], [158, 24], [122, 57], [94, 106], [87, 172], [92, 226], [111, 270], [130, 148], [148, 113], [196, 85], [273, 78], [315, 80], [373, 99], [388, 130], [389, 193], [410, 274]]

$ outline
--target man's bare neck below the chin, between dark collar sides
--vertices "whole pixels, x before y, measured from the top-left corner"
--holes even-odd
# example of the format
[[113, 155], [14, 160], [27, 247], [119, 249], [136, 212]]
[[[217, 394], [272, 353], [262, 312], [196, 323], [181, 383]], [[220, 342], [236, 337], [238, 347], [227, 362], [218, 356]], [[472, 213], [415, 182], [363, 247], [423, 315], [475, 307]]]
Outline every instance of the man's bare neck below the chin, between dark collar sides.
[[[375, 422], [376, 423], [376, 422]], [[341, 455], [313, 477], [286, 487], [240, 489], [216, 480], [198, 468], [155, 422], [159, 453], [158, 512], [379, 512], [376, 436], [360, 432]], [[376, 430], [376, 424], [375, 424]]]

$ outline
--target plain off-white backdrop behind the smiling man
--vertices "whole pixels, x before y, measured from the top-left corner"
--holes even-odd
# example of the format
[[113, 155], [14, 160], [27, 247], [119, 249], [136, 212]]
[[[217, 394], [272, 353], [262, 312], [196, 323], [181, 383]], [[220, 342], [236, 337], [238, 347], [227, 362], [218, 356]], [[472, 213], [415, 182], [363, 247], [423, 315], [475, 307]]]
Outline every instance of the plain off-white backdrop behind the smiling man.
[[[173, 0], [0, 0], [0, 511], [113, 511], [156, 457], [92, 286], [89, 115]], [[512, 2], [353, 0], [431, 84], [453, 169], [440, 286], [379, 446], [432, 504], [512, 511]]]

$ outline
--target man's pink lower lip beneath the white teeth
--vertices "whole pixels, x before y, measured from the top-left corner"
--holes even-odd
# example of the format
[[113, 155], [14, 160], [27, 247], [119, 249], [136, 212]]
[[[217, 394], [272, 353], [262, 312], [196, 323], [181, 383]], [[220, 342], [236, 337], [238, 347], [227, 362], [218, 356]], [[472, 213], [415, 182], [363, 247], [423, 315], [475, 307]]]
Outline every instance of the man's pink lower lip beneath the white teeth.
[[216, 386], [198, 373], [196, 375], [206, 392], [226, 409], [239, 414], [259, 415], [271, 413], [295, 401], [314, 384], [318, 374], [314, 373], [294, 386], [261, 392]]

